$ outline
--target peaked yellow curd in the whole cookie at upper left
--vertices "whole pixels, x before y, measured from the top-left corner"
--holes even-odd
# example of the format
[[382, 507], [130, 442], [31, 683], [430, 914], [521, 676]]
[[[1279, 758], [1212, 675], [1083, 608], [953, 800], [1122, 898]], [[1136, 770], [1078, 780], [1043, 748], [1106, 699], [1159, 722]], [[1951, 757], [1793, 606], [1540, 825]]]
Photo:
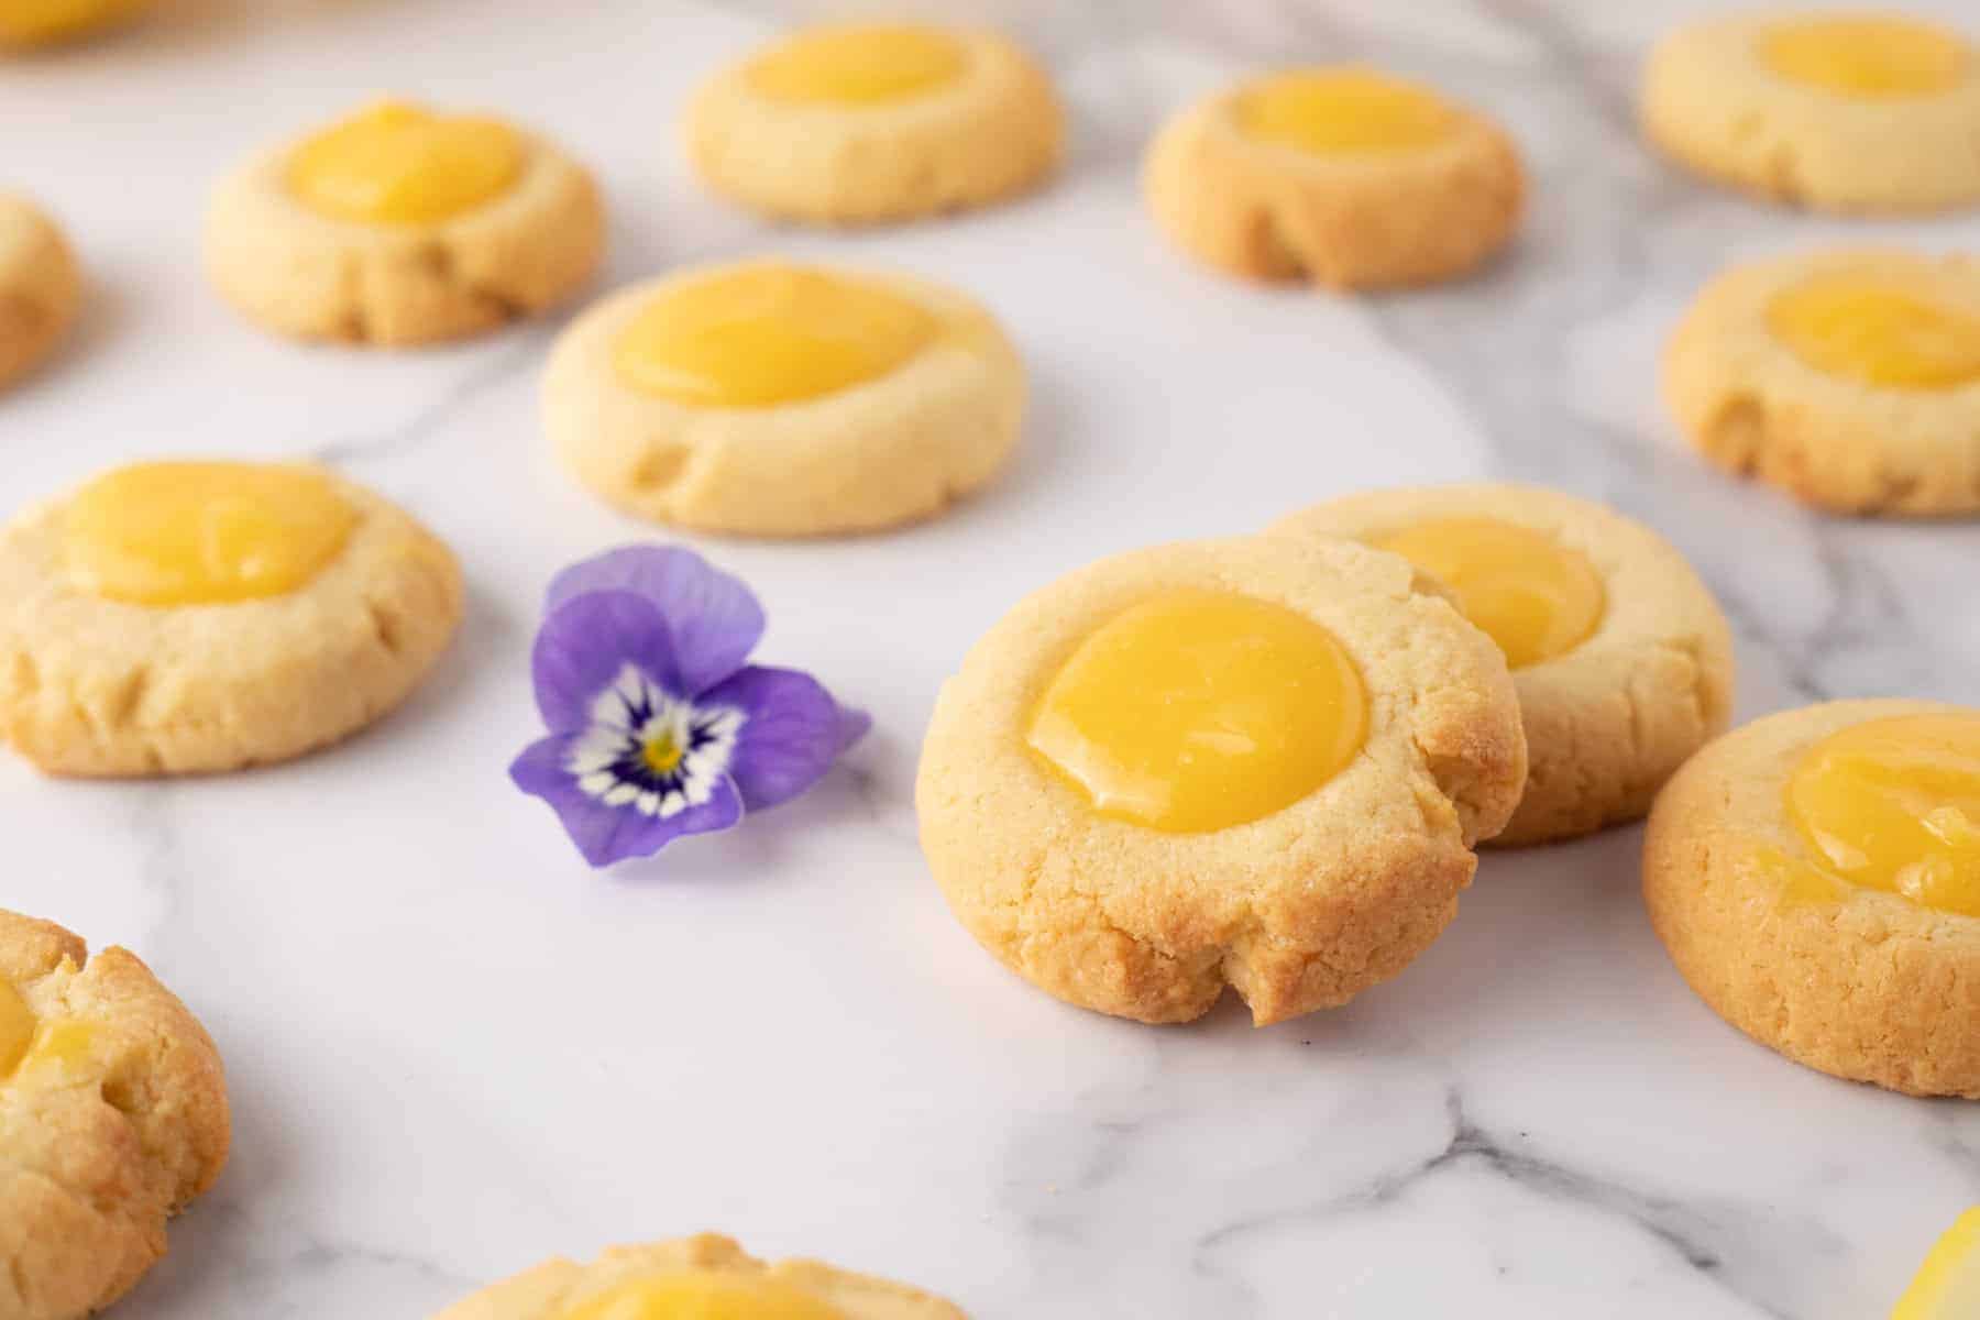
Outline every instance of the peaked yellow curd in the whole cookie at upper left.
[[503, 123], [380, 101], [297, 146], [289, 190], [333, 220], [432, 224], [507, 192], [521, 170]]

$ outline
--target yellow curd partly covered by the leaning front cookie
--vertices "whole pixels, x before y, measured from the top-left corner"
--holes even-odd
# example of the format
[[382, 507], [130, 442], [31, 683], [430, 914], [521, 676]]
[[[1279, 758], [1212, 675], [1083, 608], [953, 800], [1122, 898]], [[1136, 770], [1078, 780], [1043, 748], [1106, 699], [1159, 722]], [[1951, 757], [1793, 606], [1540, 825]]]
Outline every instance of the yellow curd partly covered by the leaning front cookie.
[[1513, 669], [1572, 651], [1608, 608], [1602, 576], [1584, 554], [1513, 522], [1441, 519], [1370, 544], [1443, 582]]

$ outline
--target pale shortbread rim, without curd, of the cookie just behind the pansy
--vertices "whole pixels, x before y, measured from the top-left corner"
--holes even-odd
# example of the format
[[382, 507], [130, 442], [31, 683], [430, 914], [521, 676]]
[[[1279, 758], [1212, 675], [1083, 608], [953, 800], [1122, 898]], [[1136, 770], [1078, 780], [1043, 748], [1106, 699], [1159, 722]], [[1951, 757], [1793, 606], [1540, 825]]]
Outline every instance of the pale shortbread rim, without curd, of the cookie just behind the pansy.
[[614, 293], [578, 317], [543, 378], [543, 425], [564, 465], [630, 515], [707, 532], [820, 536], [935, 517], [988, 485], [1024, 424], [1024, 364], [968, 297], [855, 273], [911, 299], [940, 334], [897, 370], [770, 408], [681, 404], [628, 384], [620, 334], [709, 269]]

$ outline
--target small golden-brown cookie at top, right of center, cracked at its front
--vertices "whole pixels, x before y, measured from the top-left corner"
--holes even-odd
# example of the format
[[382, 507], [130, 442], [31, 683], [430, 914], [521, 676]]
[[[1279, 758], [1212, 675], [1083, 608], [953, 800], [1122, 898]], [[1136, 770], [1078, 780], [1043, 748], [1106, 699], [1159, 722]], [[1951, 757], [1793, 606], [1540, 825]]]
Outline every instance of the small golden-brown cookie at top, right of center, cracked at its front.
[[1216, 93], [1148, 146], [1142, 188], [1186, 253], [1333, 289], [1461, 275], [1513, 237], [1525, 170], [1487, 117], [1374, 69], [1295, 69]]

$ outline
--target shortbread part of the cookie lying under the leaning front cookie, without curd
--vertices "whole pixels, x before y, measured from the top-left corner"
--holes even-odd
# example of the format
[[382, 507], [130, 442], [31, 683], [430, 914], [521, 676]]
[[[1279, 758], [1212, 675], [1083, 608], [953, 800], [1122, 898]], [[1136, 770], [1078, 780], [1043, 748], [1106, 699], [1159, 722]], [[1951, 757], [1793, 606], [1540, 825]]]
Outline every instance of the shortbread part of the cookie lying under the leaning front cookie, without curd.
[[1606, 608], [1574, 649], [1513, 671], [1527, 790], [1491, 845], [1550, 843], [1634, 821], [1732, 716], [1732, 629], [1663, 536], [1560, 491], [1461, 483], [1370, 491], [1277, 522], [1273, 534], [1378, 538], [1437, 519], [1495, 519], [1580, 552]]

